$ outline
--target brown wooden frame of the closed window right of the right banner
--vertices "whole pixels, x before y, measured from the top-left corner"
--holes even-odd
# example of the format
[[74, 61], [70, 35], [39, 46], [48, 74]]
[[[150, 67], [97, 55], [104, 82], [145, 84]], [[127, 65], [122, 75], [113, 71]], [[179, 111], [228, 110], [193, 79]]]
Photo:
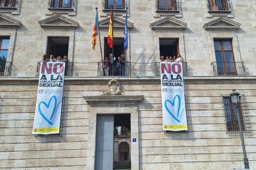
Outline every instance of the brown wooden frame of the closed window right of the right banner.
[[[224, 46], [223, 46], [223, 42], [224, 41], [229, 41], [230, 42], [230, 46], [231, 46], [231, 50], [225, 50]], [[233, 43], [232, 43], [233, 39], [218, 39], [218, 38], [214, 38], [213, 39], [213, 44], [214, 44], [214, 49], [215, 49], [215, 59], [216, 59], [216, 67], [217, 67], [217, 72], [218, 75], [237, 75], [237, 68], [236, 68], [236, 62], [234, 59], [234, 50], [233, 50]], [[215, 46], [215, 42], [220, 42], [221, 45], [221, 50], [216, 50], [216, 46]], [[222, 59], [222, 63], [221, 62], [217, 62], [217, 52], [221, 52], [221, 59]], [[231, 59], [233, 60], [233, 62], [226, 62], [226, 55], [225, 52], [231, 52]], [[220, 71], [220, 68], [218, 65], [222, 65], [222, 70]], [[228, 65], [229, 64], [229, 65]], [[229, 71], [229, 67], [230, 64], [232, 66], [232, 71]]]

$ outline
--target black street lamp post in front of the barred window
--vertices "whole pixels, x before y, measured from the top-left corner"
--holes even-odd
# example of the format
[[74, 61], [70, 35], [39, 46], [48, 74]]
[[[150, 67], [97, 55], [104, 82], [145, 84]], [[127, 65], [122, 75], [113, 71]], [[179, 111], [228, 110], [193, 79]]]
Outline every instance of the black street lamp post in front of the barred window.
[[240, 103], [240, 97], [239, 97], [239, 92], [236, 92], [236, 90], [232, 90], [233, 92], [230, 94], [231, 101], [234, 104], [235, 110], [235, 116], [237, 116], [237, 121], [238, 121], [238, 126], [239, 126], [239, 132], [240, 132], [240, 138], [242, 142], [242, 152], [244, 153], [244, 168], [245, 169], [250, 169], [249, 168], [249, 162], [246, 156], [246, 150], [245, 150], [245, 145], [244, 145], [244, 136], [242, 134], [242, 125], [241, 125], [241, 119], [240, 119], [240, 113], [239, 113], [239, 108], [238, 105]]

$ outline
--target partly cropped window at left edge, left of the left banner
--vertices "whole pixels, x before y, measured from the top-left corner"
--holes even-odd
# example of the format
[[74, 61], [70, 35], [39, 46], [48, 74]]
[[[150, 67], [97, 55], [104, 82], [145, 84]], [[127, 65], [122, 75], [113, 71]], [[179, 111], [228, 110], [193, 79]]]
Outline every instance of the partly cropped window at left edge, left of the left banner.
[[0, 76], [4, 76], [10, 38], [0, 38]]

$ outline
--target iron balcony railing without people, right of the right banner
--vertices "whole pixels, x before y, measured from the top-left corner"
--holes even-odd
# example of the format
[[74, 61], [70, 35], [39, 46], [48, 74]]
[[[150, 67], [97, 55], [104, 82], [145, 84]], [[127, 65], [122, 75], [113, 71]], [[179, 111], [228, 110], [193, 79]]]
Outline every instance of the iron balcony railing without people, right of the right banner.
[[246, 75], [244, 62], [212, 62], [215, 76]]

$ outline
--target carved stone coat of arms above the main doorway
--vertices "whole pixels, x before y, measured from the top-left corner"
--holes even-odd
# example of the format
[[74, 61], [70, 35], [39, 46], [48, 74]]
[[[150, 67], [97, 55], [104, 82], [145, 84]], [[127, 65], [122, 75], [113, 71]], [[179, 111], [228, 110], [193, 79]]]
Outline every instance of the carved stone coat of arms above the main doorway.
[[100, 95], [124, 95], [124, 92], [120, 90], [119, 80], [110, 79], [108, 81], [108, 91], [101, 92]]

